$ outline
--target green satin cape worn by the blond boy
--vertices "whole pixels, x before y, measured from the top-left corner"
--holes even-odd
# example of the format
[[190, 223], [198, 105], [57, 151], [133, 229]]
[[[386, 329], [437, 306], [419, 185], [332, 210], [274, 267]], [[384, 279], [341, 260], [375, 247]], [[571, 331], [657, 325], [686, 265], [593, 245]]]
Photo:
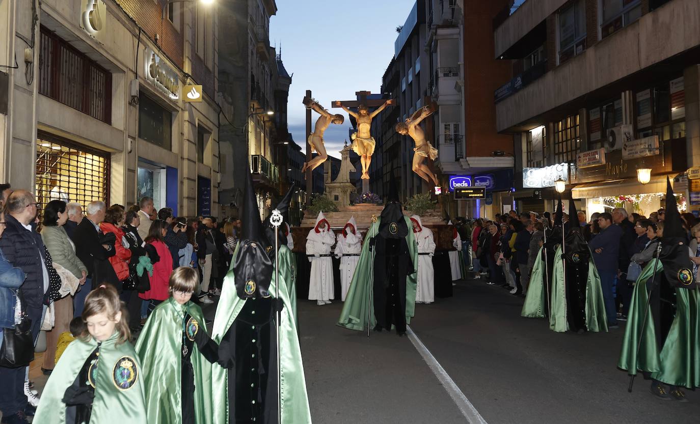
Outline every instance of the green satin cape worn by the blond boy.
[[[146, 385], [146, 411], [150, 424], [182, 423], [182, 330], [188, 312], [207, 331], [202, 309], [193, 302], [178, 304], [170, 297], [155, 307], [139, 334], [136, 351]], [[195, 373], [195, 423], [211, 422], [211, 367], [192, 346], [190, 362]], [[214, 365], [218, 367], [218, 365]]]

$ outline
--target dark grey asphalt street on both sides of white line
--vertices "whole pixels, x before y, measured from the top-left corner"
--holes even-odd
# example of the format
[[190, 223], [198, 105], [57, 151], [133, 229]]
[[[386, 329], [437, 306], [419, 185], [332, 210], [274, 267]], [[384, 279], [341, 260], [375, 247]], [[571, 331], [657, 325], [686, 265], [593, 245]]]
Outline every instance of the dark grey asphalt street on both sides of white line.
[[[489, 424], [694, 423], [700, 396], [657, 400], [617, 369], [624, 325], [559, 334], [521, 318], [523, 299], [479, 280], [416, 305], [412, 330]], [[341, 302], [300, 300], [301, 342], [314, 423], [466, 423], [407, 338], [335, 326]]]

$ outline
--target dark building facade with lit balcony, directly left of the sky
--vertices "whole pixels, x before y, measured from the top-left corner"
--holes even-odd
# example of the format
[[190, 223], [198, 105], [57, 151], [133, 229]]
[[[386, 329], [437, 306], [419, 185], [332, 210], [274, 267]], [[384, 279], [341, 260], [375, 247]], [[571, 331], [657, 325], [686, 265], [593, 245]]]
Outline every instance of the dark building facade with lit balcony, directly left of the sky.
[[269, 44], [269, 20], [277, 6], [274, 0], [218, 2], [218, 100], [228, 118], [221, 122], [221, 203], [228, 215], [240, 215], [246, 167], [250, 167], [260, 213], [267, 215], [280, 191], [279, 167], [274, 164], [279, 72], [275, 49]]

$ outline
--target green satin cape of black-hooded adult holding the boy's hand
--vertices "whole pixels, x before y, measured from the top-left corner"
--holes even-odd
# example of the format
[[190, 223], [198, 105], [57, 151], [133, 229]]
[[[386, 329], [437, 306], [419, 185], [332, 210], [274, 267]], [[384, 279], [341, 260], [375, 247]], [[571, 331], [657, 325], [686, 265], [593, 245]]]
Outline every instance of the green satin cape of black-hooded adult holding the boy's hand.
[[[236, 257], [237, 254], [238, 248], [236, 248], [233, 257]], [[281, 256], [279, 260], [281, 264]], [[309, 397], [307, 395], [306, 380], [304, 379], [302, 353], [299, 347], [297, 325], [292, 304], [287, 292], [288, 283], [284, 280], [282, 267], [280, 267], [279, 278], [281, 280], [279, 297], [284, 303], [279, 346], [282, 398], [282, 419], [280, 424], [310, 424], [311, 410], [309, 409]], [[273, 271], [269, 292], [274, 295], [278, 294], [277, 287], [276, 276]], [[233, 272], [229, 271], [223, 281], [223, 289], [216, 307], [214, 327], [211, 332], [211, 338], [216, 343], [221, 342], [221, 339], [231, 327], [245, 303], [246, 300], [238, 297]], [[219, 366], [211, 367], [211, 385], [211, 393], [214, 397], [211, 423], [226, 424], [228, 423], [228, 369]]]

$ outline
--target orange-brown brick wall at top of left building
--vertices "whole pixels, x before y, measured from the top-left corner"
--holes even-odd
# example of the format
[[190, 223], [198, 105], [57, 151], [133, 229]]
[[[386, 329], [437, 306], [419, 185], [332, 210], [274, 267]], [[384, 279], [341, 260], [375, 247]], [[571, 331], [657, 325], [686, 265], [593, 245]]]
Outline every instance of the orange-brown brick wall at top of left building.
[[[115, 0], [134, 19], [151, 39], [158, 34], [158, 45], [180, 68], [183, 68], [183, 6], [180, 10], [180, 28], [176, 29], [167, 17], [162, 19], [165, 0]], [[188, 5], [188, 3], [179, 3]]]

